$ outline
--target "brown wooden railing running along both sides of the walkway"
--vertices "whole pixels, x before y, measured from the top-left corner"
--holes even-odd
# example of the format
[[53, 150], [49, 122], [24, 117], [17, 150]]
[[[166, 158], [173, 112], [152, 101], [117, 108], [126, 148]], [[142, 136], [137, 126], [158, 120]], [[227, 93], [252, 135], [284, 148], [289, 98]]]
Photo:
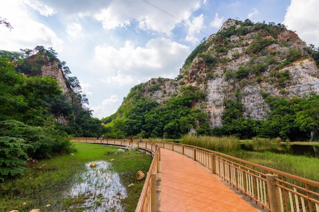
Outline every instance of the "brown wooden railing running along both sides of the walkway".
[[[123, 142], [122, 140], [116, 139], [109, 139], [108, 142], [105, 142], [105, 139], [102, 141], [96, 140], [96, 138], [92, 138], [92, 140], [91, 138], [89, 140], [86, 139], [87, 138], [83, 138], [83, 141], [117, 145], [122, 145]], [[83, 142], [81, 138], [73, 140]], [[128, 144], [128, 141], [126, 141], [126, 144]], [[157, 166], [157, 163], [155, 161], [159, 160], [160, 157], [159, 154], [156, 153], [157, 150], [159, 150], [159, 148], [166, 148], [197, 161], [212, 173], [217, 174], [227, 181], [227, 183], [234, 188], [249, 196], [256, 204], [260, 204], [262, 208], [268, 209], [269, 211], [319, 212], [319, 183], [317, 181], [197, 146], [164, 141], [134, 142], [134, 145], [151, 150], [151, 152], [158, 157], [156, 159], [155, 157], [153, 158], [149, 173], [156, 173], [154, 166]], [[148, 181], [145, 181], [136, 212], [155, 211], [151, 209], [152, 198], [148, 196], [151, 195], [149, 190], [154, 186], [154, 183], [152, 184], [150, 181], [154, 179], [152, 180], [150, 176], [150, 179], [146, 178], [146, 180]]]

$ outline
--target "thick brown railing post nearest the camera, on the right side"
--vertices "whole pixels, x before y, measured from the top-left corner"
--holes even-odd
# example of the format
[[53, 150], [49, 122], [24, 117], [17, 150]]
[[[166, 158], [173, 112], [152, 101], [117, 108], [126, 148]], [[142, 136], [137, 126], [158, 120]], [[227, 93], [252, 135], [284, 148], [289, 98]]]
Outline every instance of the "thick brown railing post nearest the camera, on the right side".
[[267, 180], [267, 190], [269, 196], [269, 206], [271, 211], [282, 211], [280, 203], [280, 193], [279, 188], [276, 186], [276, 179], [278, 176], [276, 174], [266, 174]]

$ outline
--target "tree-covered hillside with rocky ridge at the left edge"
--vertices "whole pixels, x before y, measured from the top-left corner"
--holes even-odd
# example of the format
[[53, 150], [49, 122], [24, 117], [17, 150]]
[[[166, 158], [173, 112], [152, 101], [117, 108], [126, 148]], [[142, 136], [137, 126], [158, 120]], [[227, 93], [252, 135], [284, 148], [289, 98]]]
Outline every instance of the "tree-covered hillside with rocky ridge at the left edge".
[[[0, 51], [0, 178], [21, 173], [28, 158], [70, 153], [69, 137], [103, 133], [77, 78], [56, 56], [42, 46]], [[44, 75], [50, 66], [61, 70], [60, 83]]]

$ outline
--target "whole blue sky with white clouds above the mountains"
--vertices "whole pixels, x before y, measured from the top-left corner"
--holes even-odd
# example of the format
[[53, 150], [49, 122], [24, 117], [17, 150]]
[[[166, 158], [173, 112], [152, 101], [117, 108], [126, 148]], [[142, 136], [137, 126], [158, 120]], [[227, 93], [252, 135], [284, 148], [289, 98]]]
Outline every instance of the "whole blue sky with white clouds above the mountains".
[[0, 49], [52, 47], [76, 76], [93, 117], [116, 112], [130, 88], [174, 79], [228, 19], [285, 24], [319, 47], [319, 0], [1, 0]]

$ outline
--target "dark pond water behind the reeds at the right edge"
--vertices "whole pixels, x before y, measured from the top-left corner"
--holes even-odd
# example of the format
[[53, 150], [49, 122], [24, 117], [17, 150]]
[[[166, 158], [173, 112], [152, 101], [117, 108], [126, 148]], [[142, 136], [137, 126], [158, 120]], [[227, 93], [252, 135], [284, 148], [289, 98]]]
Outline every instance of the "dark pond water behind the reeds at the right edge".
[[271, 144], [267, 146], [254, 146], [254, 144], [242, 144], [241, 148], [248, 151], [263, 152], [267, 150], [273, 153], [289, 154], [296, 156], [317, 157], [319, 158], [319, 146], [317, 145], [287, 145]]

